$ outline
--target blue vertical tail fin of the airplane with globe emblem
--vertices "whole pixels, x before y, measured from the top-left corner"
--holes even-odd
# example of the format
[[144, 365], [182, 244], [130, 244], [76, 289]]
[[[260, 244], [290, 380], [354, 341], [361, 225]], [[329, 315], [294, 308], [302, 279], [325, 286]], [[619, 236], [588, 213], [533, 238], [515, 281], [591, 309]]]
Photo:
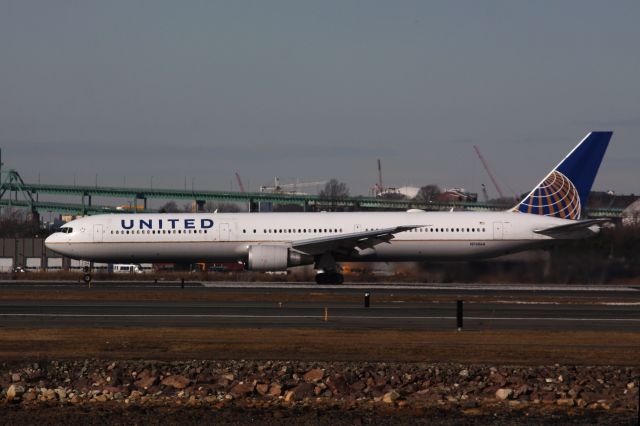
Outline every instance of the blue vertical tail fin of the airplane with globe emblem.
[[591, 132], [512, 210], [580, 219], [613, 132]]

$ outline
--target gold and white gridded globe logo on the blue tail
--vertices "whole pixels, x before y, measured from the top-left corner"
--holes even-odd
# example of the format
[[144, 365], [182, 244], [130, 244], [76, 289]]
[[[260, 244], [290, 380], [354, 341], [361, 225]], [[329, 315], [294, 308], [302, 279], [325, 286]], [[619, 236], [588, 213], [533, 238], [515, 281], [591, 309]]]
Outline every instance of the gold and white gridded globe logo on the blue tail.
[[565, 175], [554, 170], [514, 211], [578, 220], [580, 195]]

